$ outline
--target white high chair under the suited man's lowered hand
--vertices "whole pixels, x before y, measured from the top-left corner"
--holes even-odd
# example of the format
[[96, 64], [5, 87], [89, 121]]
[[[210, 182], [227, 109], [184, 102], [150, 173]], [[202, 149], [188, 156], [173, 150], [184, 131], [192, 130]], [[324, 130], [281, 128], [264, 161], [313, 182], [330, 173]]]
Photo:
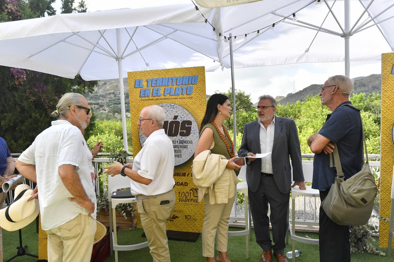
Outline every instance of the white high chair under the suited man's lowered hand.
[[[305, 182], [311, 182], [313, 178], [313, 161], [302, 161], [302, 169], [304, 173], [304, 178]], [[293, 169], [292, 169], [292, 175], [293, 175]], [[320, 192], [317, 189], [312, 189], [312, 186], [307, 186], [306, 190], [301, 190], [299, 187], [292, 187], [292, 223], [290, 225], [289, 222], [289, 231], [290, 231], [290, 236], [292, 238], [292, 248], [293, 248], [293, 261], [296, 261], [296, 241], [298, 242], [303, 242], [307, 244], [319, 244], [318, 239], [310, 239], [310, 238], [305, 238], [301, 236], [296, 236], [296, 231], [295, 231], [295, 219], [296, 219], [296, 197], [297, 196], [310, 196], [310, 197], [320, 197]]]

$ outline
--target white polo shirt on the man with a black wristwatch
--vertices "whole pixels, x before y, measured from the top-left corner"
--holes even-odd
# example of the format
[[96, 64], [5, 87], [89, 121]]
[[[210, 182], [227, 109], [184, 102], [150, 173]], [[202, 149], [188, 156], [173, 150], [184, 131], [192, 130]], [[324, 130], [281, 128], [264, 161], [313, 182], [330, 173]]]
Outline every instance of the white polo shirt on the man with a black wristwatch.
[[164, 129], [154, 131], [133, 159], [133, 170], [144, 178], [151, 179], [149, 185], [130, 182], [133, 195], [153, 196], [170, 191], [174, 185], [174, 148]]

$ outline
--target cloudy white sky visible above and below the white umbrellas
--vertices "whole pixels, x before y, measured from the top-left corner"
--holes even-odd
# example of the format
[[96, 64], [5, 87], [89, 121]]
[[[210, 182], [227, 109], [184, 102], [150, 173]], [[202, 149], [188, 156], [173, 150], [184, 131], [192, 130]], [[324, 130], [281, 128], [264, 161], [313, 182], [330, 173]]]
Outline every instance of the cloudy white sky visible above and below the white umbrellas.
[[[75, 0], [78, 2], [78, 0]], [[123, 7], [141, 8], [165, 4], [190, 3], [191, 0], [85, 0], [88, 11], [117, 9]], [[61, 0], [57, 0], [54, 7], [59, 14]], [[344, 74], [344, 62], [303, 63], [277, 66], [263, 66], [254, 68], [236, 68], [234, 70], [235, 87], [251, 94], [252, 102], [257, 97], [269, 94], [287, 95], [293, 91], [295, 81], [296, 91], [311, 84], [323, 84], [331, 75]], [[381, 73], [381, 61], [351, 62], [350, 77], [368, 76]], [[227, 91], [231, 86], [230, 69], [220, 69], [216, 72], [206, 72], [206, 93], [213, 94], [216, 90]]]

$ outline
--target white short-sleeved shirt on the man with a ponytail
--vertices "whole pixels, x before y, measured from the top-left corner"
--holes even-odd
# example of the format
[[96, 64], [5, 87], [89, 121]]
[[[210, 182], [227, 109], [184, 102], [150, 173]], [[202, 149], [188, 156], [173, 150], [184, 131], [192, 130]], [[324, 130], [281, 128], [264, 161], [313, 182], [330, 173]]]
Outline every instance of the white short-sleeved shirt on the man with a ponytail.
[[96, 219], [97, 201], [92, 184], [86, 151], [86, 141], [81, 131], [66, 120], [52, 121], [52, 126], [39, 134], [19, 161], [35, 165], [38, 200], [43, 230], [53, 229], [78, 216], [89, 214], [68, 198], [73, 197], [59, 176], [61, 165], [74, 165], [87, 197], [95, 203], [92, 217]]

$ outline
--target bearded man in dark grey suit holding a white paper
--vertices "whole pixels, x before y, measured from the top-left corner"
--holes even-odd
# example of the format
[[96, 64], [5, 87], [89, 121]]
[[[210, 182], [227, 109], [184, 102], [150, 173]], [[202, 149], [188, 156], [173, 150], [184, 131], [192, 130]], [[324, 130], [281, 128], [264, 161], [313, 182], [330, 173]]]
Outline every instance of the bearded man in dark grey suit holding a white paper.
[[[290, 158], [292, 159], [294, 184], [306, 189], [302, 172], [301, 149], [294, 120], [277, 117], [276, 101], [270, 95], [259, 97], [258, 120], [247, 123], [239, 156], [256, 156], [272, 152], [265, 158], [249, 158], [246, 167], [249, 201], [255, 227], [256, 242], [263, 249], [262, 261], [271, 262], [272, 253], [279, 262], [288, 261], [284, 256], [284, 238], [288, 226], [288, 207], [292, 182]], [[290, 158], [289, 158], [290, 156]], [[272, 235], [269, 235], [268, 203], [271, 209]]]

